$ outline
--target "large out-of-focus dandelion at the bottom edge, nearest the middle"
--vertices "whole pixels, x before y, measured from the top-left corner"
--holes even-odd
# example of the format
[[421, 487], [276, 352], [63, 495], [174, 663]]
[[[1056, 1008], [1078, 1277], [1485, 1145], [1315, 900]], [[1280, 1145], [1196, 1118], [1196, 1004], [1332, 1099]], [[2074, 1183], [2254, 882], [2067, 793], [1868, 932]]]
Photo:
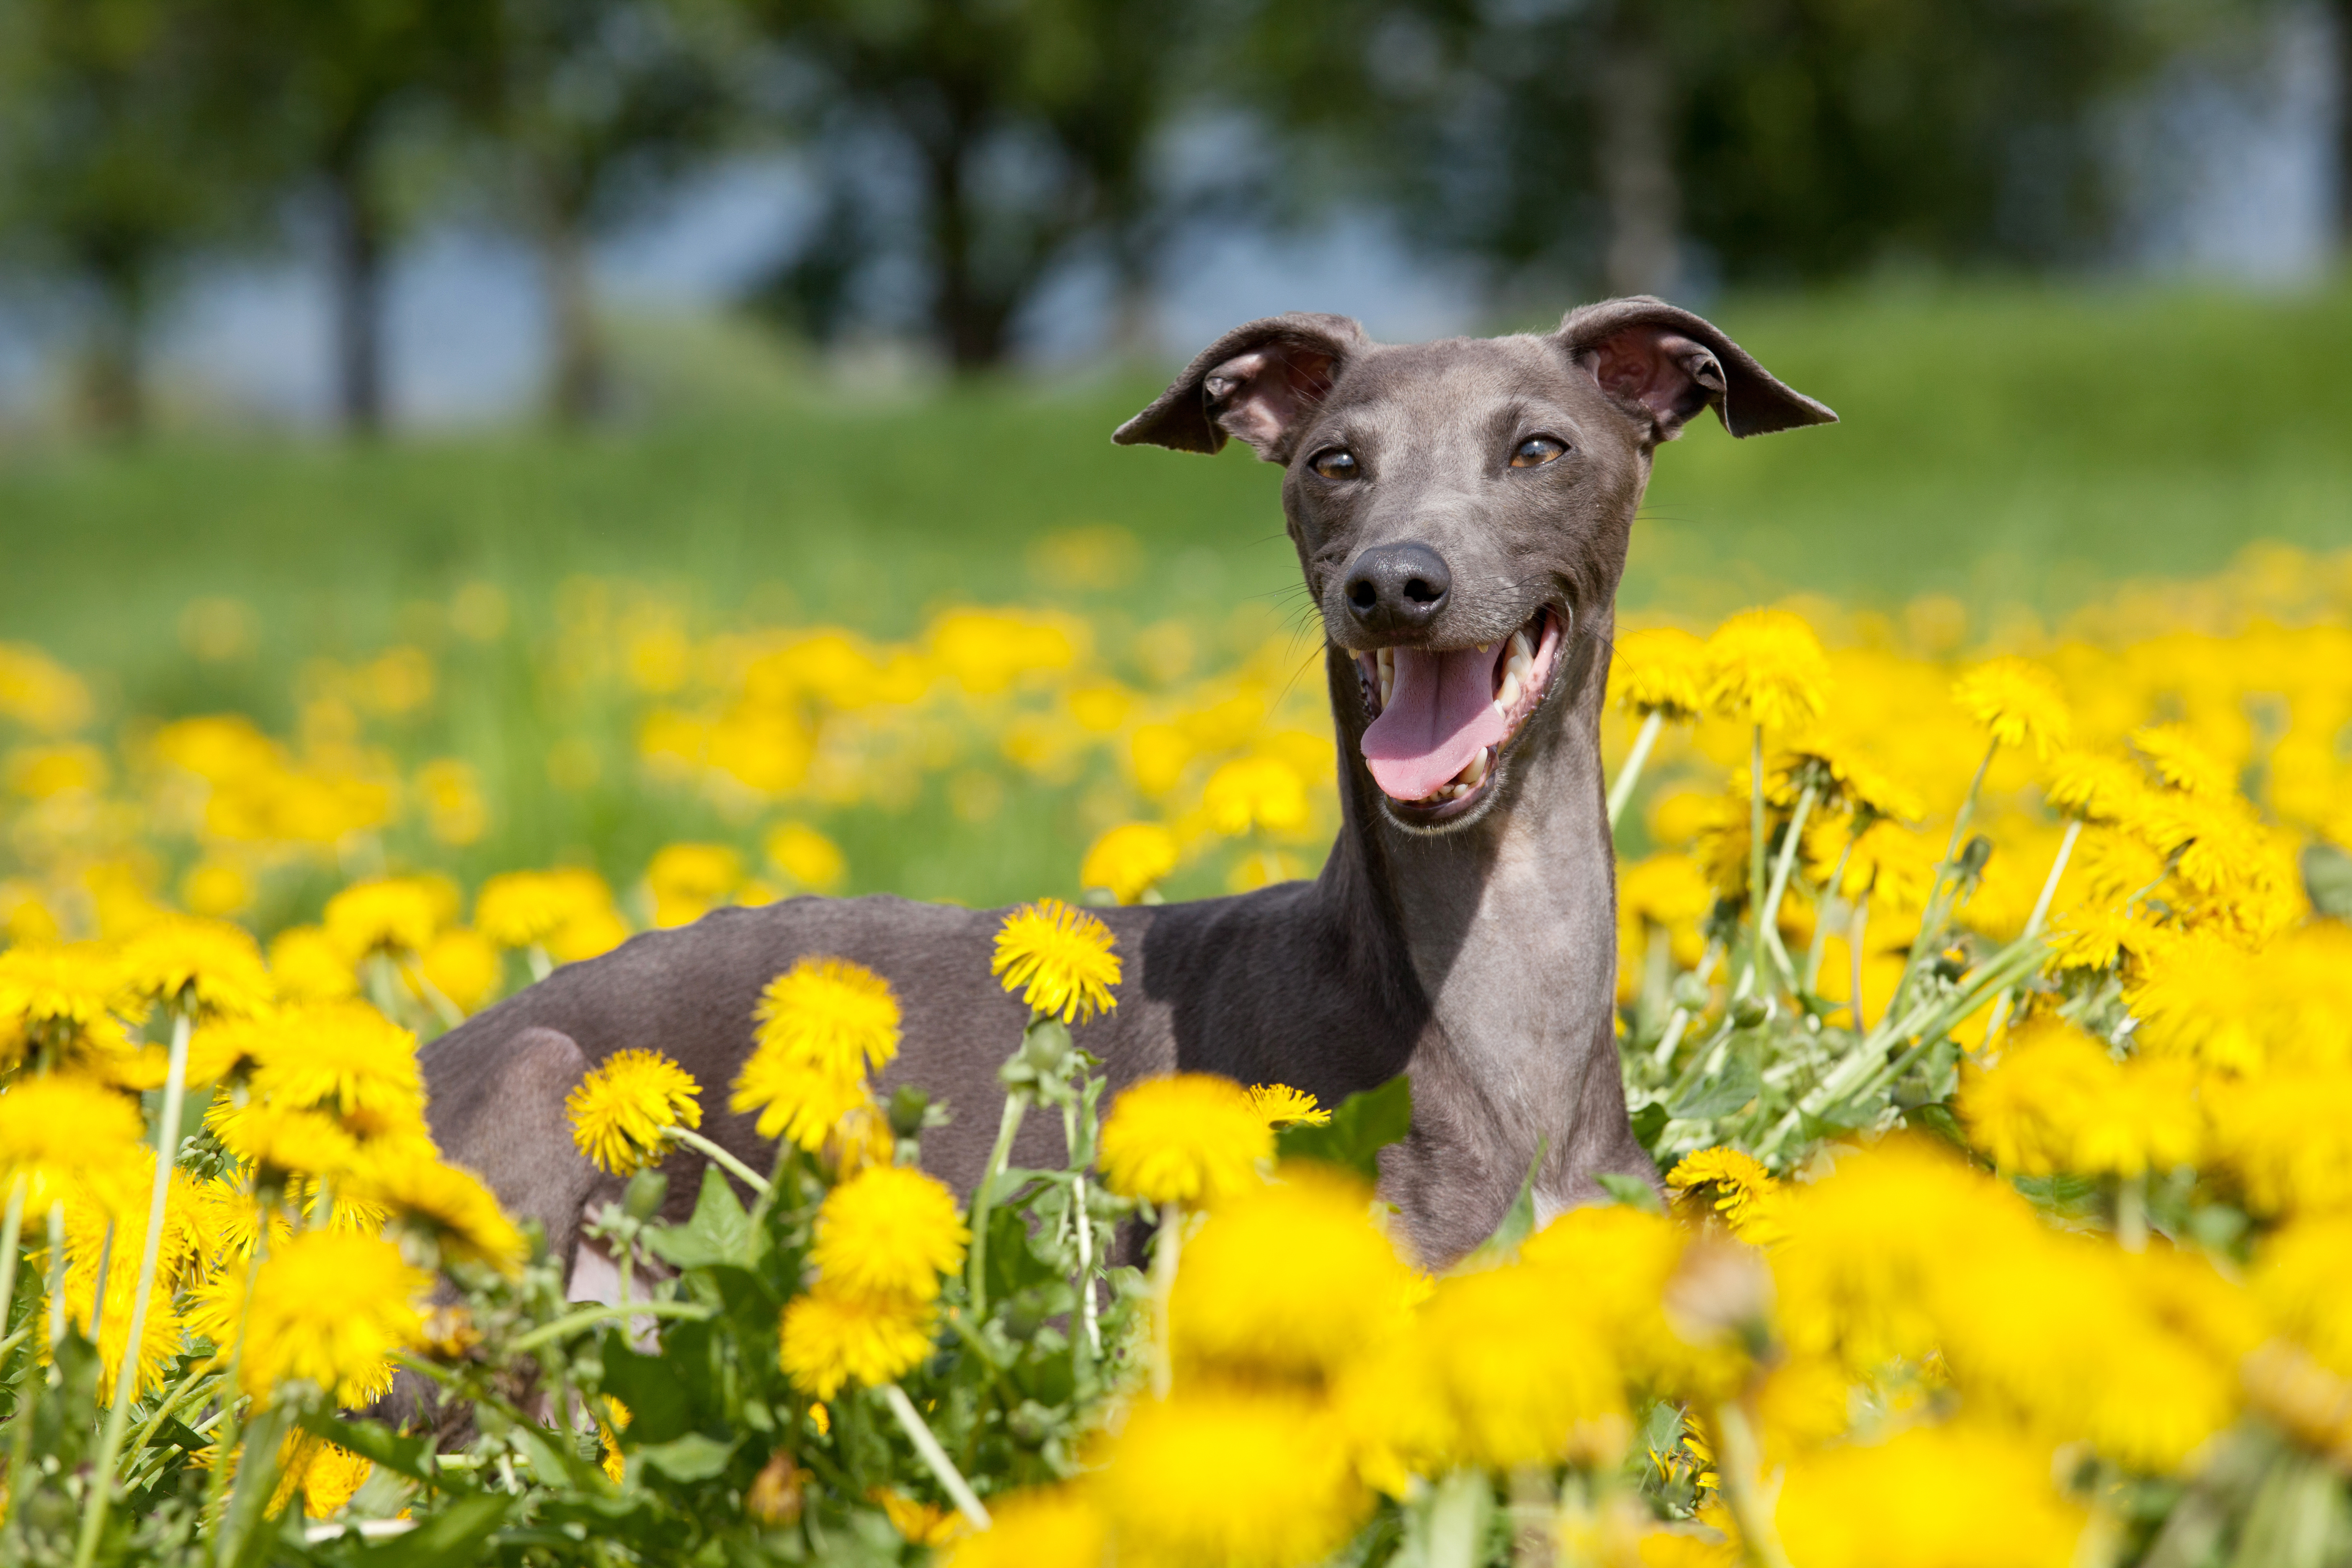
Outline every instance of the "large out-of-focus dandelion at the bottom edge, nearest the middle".
[[1091, 1479], [1117, 1559], [1296, 1568], [1371, 1512], [1338, 1422], [1287, 1389], [1190, 1389], [1138, 1403]]

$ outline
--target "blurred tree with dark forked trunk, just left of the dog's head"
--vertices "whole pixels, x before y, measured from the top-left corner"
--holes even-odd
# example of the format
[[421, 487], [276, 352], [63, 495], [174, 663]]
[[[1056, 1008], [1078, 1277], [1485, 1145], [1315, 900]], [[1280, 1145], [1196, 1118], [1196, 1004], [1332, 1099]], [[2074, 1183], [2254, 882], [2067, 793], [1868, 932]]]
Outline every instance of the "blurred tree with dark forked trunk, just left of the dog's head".
[[[1152, 254], [1145, 158], [1188, 16], [1164, 0], [736, 0], [795, 82], [823, 205], [760, 303], [818, 341], [889, 268], [957, 369], [1004, 360], [1087, 247], [1127, 299]], [[898, 174], [898, 179], [891, 179]]]

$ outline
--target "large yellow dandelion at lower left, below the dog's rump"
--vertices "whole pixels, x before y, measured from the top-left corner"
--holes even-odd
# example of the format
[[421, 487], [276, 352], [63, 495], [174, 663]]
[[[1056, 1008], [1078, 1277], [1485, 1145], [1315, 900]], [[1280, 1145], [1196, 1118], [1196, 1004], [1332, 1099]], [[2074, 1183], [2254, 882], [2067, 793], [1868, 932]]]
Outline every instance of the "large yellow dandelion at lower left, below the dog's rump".
[[303, 1232], [261, 1265], [238, 1385], [261, 1403], [296, 1380], [365, 1403], [390, 1387], [390, 1354], [423, 1345], [430, 1288], [433, 1276], [402, 1262], [390, 1241]]

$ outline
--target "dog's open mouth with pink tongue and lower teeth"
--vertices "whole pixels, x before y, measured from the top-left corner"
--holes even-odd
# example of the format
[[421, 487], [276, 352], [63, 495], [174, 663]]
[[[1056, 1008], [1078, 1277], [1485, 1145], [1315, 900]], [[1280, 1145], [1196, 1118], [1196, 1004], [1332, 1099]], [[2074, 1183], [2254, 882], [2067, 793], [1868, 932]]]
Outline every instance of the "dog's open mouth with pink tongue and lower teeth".
[[1557, 656], [1559, 616], [1550, 609], [1501, 644], [1357, 654], [1371, 710], [1364, 764], [1374, 783], [1392, 802], [1423, 811], [1468, 802], [1536, 712]]

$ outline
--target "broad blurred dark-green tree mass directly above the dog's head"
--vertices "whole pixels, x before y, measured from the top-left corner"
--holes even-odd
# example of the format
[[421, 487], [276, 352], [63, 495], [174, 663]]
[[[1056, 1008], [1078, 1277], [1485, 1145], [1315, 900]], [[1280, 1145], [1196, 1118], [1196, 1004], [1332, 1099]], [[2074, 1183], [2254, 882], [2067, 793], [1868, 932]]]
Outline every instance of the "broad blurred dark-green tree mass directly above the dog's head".
[[[1498, 289], [2098, 252], [2096, 110], [2230, 0], [1263, 0], [1244, 101]], [[1334, 155], [1336, 153], [1336, 155]]]

